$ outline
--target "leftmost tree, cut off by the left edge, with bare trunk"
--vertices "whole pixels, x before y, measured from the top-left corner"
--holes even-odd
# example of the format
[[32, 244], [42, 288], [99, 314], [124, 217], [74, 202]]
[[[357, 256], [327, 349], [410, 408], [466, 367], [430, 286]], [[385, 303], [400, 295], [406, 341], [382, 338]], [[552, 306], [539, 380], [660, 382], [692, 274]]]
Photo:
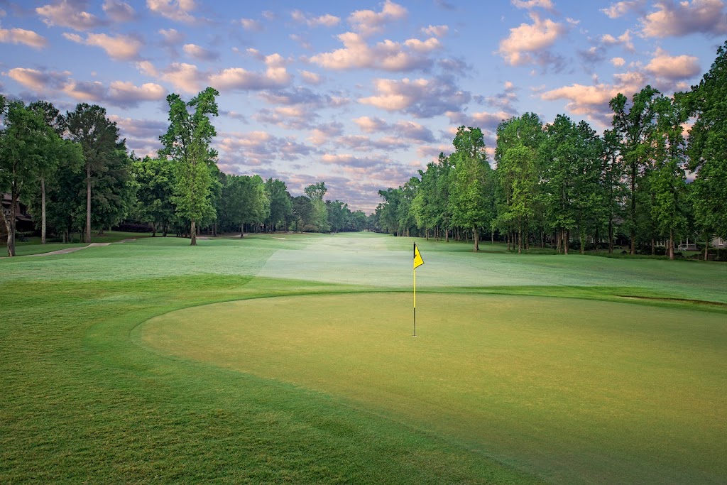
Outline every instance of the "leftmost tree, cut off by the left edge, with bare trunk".
[[5, 129], [0, 132], [0, 193], [10, 193], [10, 214], [3, 217], [7, 229], [7, 254], [15, 256], [17, 204], [28, 185], [37, 179], [44, 156], [57, 135], [44, 119], [20, 101], [0, 100]]

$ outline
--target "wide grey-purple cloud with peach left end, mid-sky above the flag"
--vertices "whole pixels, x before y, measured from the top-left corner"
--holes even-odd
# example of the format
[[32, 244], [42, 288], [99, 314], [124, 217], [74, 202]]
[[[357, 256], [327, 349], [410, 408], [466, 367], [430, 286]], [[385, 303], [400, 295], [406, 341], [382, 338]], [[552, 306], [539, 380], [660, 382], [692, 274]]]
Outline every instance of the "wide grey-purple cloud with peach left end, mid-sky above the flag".
[[430, 118], [446, 111], [459, 111], [471, 95], [447, 77], [433, 79], [374, 79], [376, 95], [358, 102], [386, 111], [403, 111], [417, 118]]

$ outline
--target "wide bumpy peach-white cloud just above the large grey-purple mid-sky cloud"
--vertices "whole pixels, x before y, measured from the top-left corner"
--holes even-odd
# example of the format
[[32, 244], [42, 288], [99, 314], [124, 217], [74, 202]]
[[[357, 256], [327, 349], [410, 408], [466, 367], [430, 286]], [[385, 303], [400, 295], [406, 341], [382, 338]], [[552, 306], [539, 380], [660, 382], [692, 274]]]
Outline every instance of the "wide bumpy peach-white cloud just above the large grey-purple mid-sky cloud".
[[358, 33], [342, 33], [338, 39], [345, 46], [343, 49], [314, 55], [310, 62], [335, 71], [362, 68], [413, 71], [428, 68], [432, 64], [428, 54], [441, 48], [435, 37], [426, 41], [408, 39], [403, 44], [385, 40], [372, 46]]

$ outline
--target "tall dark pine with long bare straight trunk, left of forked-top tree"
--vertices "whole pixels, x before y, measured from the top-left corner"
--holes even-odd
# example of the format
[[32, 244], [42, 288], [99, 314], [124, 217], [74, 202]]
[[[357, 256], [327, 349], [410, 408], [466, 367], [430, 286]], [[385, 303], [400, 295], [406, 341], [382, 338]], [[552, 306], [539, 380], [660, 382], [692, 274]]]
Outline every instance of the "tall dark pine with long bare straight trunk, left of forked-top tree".
[[116, 161], [117, 151], [126, 153], [124, 140], [119, 140], [119, 128], [106, 118], [106, 109], [99, 105], [81, 103], [65, 116], [71, 140], [81, 145], [86, 164], [86, 242], [91, 242], [91, 200], [94, 181], [108, 172]]

